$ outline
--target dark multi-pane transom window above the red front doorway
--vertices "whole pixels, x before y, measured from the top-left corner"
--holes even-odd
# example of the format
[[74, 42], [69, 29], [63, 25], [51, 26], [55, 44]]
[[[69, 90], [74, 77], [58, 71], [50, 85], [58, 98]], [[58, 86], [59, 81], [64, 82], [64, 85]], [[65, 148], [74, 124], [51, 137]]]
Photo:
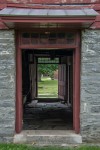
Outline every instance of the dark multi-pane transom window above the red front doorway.
[[75, 44], [74, 33], [64, 32], [42, 32], [42, 33], [22, 33], [21, 44]]

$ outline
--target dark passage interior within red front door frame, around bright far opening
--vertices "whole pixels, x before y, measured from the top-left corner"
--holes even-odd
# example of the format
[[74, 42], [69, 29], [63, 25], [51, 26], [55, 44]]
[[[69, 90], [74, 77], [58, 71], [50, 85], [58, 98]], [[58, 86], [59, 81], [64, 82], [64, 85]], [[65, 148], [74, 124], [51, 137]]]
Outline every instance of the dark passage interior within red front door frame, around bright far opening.
[[[53, 60], [51, 60], [51, 54], [53, 54]], [[38, 97], [37, 70], [41, 61], [40, 58], [43, 58], [42, 61], [45, 60], [46, 62], [46, 58], [49, 58], [53, 65], [55, 61], [58, 65], [58, 94], [56, 98]], [[49, 64], [51, 64], [50, 60]], [[23, 129], [72, 130], [73, 49], [23, 50], [22, 79], [24, 100]]]

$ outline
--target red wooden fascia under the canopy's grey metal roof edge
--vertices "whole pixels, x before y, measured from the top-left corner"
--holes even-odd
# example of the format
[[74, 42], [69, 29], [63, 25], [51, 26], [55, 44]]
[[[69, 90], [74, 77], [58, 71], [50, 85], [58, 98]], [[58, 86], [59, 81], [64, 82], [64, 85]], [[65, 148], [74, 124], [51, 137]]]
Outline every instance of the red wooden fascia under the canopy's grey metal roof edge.
[[[94, 16], [91, 16], [91, 17], [62, 17], [62, 18], [53, 18], [53, 17], [44, 17], [44, 18], [40, 18], [40, 17], [20, 17], [20, 16], [17, 16], [17, 17], [11, 17], [11, 16], [8, 16], [8, 17], [1, 17], [2, 18], [2, 22], [6, 24], [7, 27], [10, 28], [10, 25], [12, 23], [12, 27], [11, 28], [17, 28], [17, 24], [18, 24], [18, 27], [21, 28], [21, 23], [25, 24], [28, 26], [28, 25], [31, 25], [32, 23], [64, 23], [66, 24], [67, 26], [74, 26], [79, 28], [78, 25], [81, 27], [83, 23], [87, 23], [88, 26], [90, 24], [92, 24], [94, 21], [95, 21], [95, 18]], [[10, 24], [9, 24], [10, 23]], [[22, 25], [22, 28], [23, 28], [23, 25]]]

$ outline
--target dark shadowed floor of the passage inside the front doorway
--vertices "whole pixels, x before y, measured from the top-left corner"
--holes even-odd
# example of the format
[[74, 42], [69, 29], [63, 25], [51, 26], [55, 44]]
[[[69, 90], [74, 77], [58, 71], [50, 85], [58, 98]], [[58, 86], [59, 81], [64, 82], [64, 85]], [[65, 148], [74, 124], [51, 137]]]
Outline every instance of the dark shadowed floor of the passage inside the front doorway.
[[23, 130], [72, 130], [72, 109], [61, 102], [24, 107]]

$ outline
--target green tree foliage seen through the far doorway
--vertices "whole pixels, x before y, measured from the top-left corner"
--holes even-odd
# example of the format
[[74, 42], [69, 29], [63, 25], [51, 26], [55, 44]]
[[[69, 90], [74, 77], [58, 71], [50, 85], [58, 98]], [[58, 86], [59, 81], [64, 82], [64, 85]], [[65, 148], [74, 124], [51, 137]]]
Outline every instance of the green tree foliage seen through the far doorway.
[[48, 75], [53, 79], [54, 71], [58, 69], [58, 64], [39, 64], [38, 65], [38, 81], [40, 81], [40, 75]]

